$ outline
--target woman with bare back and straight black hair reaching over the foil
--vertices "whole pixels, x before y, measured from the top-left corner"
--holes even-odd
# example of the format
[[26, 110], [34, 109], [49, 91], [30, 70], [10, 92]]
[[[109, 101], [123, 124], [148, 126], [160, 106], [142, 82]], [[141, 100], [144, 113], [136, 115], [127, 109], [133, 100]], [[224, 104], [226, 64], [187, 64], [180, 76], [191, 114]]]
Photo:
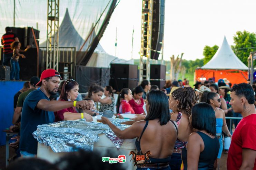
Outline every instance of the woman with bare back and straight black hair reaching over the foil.
[[[152, 90], [147, 94], [145, 120], [138, 121], [121, 131], [108, 118], [101, 117], [99, 122], [109, 125], [120, 139], [137, 138], [136, 147], [143, 154], [150, 151], [149, 161], [138, 170], [170, 170], [169, 161], [177, 139], [177, 125], [170, 121], [169, 103], [161, 90]], [[127, 158], [129, 159], [129, 158]]]

